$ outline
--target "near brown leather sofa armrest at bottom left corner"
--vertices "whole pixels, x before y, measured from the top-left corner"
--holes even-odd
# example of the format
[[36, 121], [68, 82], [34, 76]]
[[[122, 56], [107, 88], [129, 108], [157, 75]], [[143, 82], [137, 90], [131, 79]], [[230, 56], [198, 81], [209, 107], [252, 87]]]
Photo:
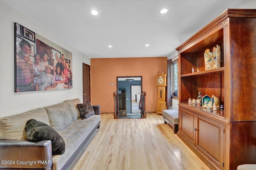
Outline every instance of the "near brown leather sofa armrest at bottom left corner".
[[0, 140], [0, 168], [52, 168], [52, 142]]

